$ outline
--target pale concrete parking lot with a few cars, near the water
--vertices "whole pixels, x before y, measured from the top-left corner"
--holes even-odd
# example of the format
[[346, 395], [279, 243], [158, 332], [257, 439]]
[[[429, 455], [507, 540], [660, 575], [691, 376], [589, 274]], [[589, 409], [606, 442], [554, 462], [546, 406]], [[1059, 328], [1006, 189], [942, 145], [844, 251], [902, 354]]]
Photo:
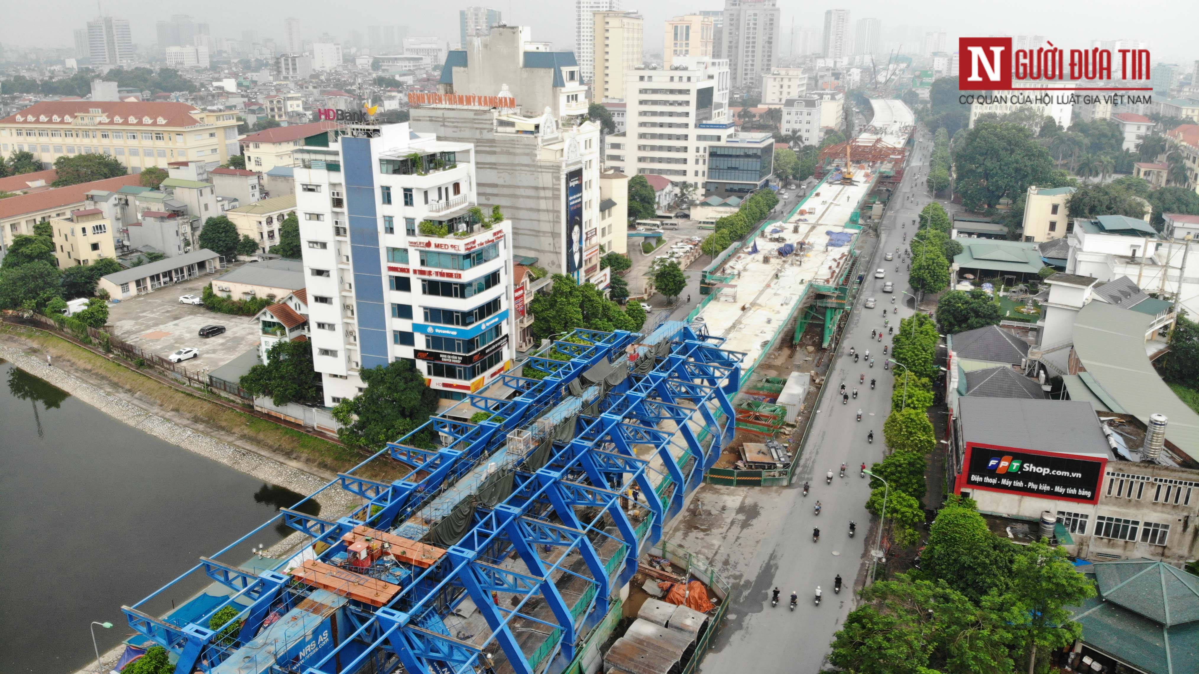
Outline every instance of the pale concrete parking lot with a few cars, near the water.
[[[185, 366], [213, 371], [258, 344], [258, 321], [179, 301], [180, 295], [199, 296], [212, 278], [192, 278], [109, 305], [108, 323], [120, 339], [163, 357], [183, 347], [199, 349], [200, 355]], [[203, 338], [198, 332], [205, 325], [224, 325], [225, 332]]]

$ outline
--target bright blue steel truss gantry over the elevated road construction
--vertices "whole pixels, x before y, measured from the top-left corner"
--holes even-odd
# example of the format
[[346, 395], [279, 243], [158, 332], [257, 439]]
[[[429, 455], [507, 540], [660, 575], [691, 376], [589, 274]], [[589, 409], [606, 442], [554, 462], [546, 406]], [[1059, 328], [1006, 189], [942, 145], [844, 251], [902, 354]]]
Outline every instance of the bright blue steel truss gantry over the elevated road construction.
[[[731, 396], [740, 387], [742, 354], [721, 349], [722, 342], [682, 323], [664, 324], [644, 338], [623, 331], [574, 330], [519, 363], [522, 373], [532, 371], [541, 378], [504, 374], [510, 397], [470, 395], [454, 408], [468, 405], [466, 417], [476, 410], [493, 413], [499, 421], [435, 416], [326, 485], [321, 491], [337, 486], [361, 497], [362, 505], [349, 516], [329, 520], [284, 508], [263, 525], [282, 520], [309, 536], [297, 555], [260, 572], [217, 561], [247, 535], [211, 559], [201, 558], [188, 573], [138, 604], [122, 607], [128, 622], [179, 656], [177, 674], [353, 674], [391, 672], [400, 664], [411, 674], [560, 672], [632, 578], [645, 546], [661, 538], [663, 524], [682, 510], [686, 495], [733, 439]], [[623, 375], [629, 354], [637, 359]], [[646, 371], [644, 359], [652, 368]], [[350, 600], [339, 614], [335, 644], [313, 648], [307, 660], [303, 649], [285, 662], [258, 662], [261, 644], [255, 636], [265, 633], [269, 615], [301, 606], [313, 591], [289, 574], [290, 568], [302, 559], [331, 564], [339, 554], [344, 559], [343, 536], [355, 528], [393, 531], [493, 456], [510, 432], [528, 428], [568, 398], [571, 385], [594, 368], [617, 372], [608, 379], [605, 395], [588, 408], [590, 414], [573, 419], [568, 433], [558, 434], [566, 439], [553, 440], [550, 451], [541, 452], [541, 465], [531, 465], [528, 457], [517, 463], [507, 497], [492, 506], [478, 504], [465, 534], [445, 547], [442, 556], [426, 568], [403, 570], [398, 592], [384, 606], [344, 592]], [[440, 447], [415, 446], [417, 438], [429, 437], [439, 438]], [[372, 462], [386, 461], [412, 470], [393, 482], [355, 475]], [[629, 499], [638, 507], [629, 507]], [[356, 573], [339, 573], [355, 583]], [[192, 574], [218, 584], [227, 596], [203, 610], [176, 610], [164, 618], [147, 612], [147, 602], [169, 596]], [[209, 621], [227, 606], [239, 612], [242, 622], [218, 633]], [[282, 658], [288, 646], [276, 644], [271, 650]], [[254, 652], [254, 661], [242, 651]]]

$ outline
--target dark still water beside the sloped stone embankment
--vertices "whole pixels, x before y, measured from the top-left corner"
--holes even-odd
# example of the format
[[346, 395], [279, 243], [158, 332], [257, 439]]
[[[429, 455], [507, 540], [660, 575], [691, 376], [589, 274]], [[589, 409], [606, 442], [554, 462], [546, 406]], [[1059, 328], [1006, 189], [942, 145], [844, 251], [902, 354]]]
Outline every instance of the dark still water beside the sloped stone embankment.
[[[0, 360], [0, 672], [68, 673], [133, 604], [301, 497], [126, 426]], [[313, 504], [315, 505], [315, 504]], [[287, 531], [266, 528], [249, 547]], [[200, 584], [168, 600], [182, 601]]]

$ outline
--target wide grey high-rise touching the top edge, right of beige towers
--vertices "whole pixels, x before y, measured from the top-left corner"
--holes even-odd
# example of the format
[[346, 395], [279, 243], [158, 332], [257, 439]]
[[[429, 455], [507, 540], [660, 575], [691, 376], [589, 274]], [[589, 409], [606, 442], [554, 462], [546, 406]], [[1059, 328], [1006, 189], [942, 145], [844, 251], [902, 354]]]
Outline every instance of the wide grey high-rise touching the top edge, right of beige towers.
[[724, 0], [724, 48], [733, 86], [757, 89], [778, 61], [778, 0]]

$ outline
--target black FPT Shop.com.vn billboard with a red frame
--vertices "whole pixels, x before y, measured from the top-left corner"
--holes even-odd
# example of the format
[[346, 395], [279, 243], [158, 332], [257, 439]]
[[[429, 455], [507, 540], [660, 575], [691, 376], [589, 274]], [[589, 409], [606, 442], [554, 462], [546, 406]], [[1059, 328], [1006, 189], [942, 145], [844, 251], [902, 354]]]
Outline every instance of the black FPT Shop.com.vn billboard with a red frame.
[[1096, 504], [1108, 459], [966, 443], [957, 493], [984, 489]]

